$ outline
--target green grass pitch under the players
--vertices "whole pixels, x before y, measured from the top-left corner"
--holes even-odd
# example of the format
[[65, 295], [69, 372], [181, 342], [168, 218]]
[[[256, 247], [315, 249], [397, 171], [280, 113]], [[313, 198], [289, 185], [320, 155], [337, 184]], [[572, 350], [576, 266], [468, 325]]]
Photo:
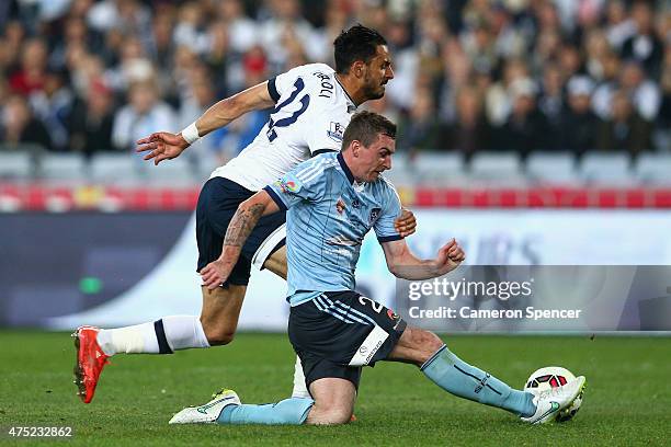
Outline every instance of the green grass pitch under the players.
[[[582, 410], [566, 424], [527, 426], [503, 411], [450, 396], [417, 368], [364, 371], [355, 413], [338, 427], [169, 426], [173, 413], [218, 388], [243, 402], [274, 402], [292, 388], [294, 355], [284, 335], [241, 333], [230, 346], [171, 356], [118, 355], [93, 402], [72, 385], [69, 334], [0, 331], [0, 426], [72, 426], [60, 445], [668, 445], [671, 339], [443, 336], [462, 358], [521, 387], [537, 367], [561, 365], [588, 378]], [[0, 435], [0, 444], [19, 443]], [[41, 443], [42, 444], [42, 443]]]

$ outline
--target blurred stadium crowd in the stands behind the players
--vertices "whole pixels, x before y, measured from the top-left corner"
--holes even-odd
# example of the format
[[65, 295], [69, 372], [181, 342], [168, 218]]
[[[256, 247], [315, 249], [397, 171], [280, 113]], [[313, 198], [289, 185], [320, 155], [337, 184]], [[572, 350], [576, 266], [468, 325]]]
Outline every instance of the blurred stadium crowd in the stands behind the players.
[[[332, 65], [361, 22], [395, 58], [368, 106], [399, 148], [671, 151], [671, 8], [605, 0], [8, 0], [0, 151], [132, 151], [218, 99], [297, 65]], [[198, 141], [228, 159], [268, 119]]]

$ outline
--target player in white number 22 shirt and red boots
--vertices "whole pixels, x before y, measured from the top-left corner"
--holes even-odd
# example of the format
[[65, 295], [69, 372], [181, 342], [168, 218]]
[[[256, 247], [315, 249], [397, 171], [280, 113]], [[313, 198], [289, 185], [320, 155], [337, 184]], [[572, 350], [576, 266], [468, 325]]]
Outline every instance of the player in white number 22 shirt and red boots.
[[[191, 144], [242, 114], [274, 107], [269, 123], [237, 158], [216, 169], [205, 183], [196, 208], [200, 272], [218, 262], [224, 236], [238, 205], [298, 163], [325, 151], [338, 151], [356, 107], [379, 99], [394, 78], [384, 37], [362, 25], [333, 43], [336, 70], [325, 64], [296, 67], [266, 82], [221, 100], [180, 134], [156, 133], [138, 141], [138, 152], [156, 164], [179, 157]], [[284, 213], [263, 218], [242, 247], [242, 255], [225, 283], [202, 286], [197, 316], [170, 316], [138, 325], [101, 330], [81, 326], [72, 334], [77, 348], [76, 385], [91, 402], [107, 358], [118, 353], [171, 354], [178, 349], [225, 345], [232, 341], [251, 265], [286, 279]], [[414, 217], [396, 221], [403, 236], [414, 231]], [[308, 396], [297, 363], [295, 397]]]

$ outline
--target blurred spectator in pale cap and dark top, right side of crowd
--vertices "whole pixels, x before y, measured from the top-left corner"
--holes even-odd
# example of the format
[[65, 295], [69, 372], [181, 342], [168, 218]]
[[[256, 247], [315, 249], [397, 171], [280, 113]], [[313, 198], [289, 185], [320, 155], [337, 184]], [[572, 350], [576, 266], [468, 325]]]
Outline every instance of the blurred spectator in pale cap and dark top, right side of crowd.
[[576, 76], [568, 82], [568, 107], [561, 119], [559, 149], [582, 154], [596, 146], [599, 118], [592, 112], [590, 99], [594, 83], [587, 76]]

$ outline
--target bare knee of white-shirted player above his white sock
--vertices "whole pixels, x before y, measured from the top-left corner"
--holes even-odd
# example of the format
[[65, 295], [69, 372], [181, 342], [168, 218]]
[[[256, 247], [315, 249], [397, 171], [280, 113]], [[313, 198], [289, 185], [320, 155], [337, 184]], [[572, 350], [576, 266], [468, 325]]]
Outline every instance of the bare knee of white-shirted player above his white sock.
[[212, 346], [229, 344], [238, 329], [247, 286], [228, 285], [214, 290], [203, 286], [201, 290], [203, 293], [201, 323], [207, 342]]

